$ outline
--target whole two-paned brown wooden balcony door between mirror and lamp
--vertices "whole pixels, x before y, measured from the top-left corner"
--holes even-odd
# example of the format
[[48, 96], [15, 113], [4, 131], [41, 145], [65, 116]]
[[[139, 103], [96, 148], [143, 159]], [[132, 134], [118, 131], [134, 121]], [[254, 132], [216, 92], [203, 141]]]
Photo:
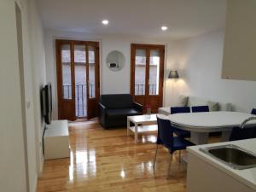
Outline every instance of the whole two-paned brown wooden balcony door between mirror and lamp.
[[163, 102], [165, 46], [131, 44], [131, 95], [157, 113]]

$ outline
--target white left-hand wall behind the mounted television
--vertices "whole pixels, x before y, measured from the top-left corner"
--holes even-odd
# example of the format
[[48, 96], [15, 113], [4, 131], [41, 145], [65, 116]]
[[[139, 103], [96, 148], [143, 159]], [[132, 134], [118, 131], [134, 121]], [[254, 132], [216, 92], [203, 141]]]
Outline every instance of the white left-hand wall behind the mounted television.
[[[20, 7], [22, 17], [21, 49], [24, 68], [21, 74], [24, 81], [21, 85], [15, 2]], [[45, 82], [43, 30], [34, 0], [3, 0], [0, 15], [0, 191], [36, 191], [39, 155], [42, 154], [38, 134], [41, 132], [42, 122], [38, 113], [38, 93], [35, 92], [39, 90], [38, 84]], [[34, 71], [40, 73], [34, 75]], [[23, 100], [20, 89], [25, 92]], [[23, 126], [22, 122], [26, 124]], [[41, 139], [42, 137], [40, 141]]]

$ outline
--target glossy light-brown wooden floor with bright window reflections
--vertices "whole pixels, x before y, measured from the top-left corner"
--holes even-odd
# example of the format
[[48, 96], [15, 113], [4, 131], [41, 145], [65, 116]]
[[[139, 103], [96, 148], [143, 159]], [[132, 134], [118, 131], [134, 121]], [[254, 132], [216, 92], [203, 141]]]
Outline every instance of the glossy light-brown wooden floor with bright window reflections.
[[70, 158], [44, 161], [38, 192], [185, 191], [186, 164], [178, 163], [178, 155], [166, 180], [170, 156], [160, 148], [154, 172], [155, 135], [134, 144], [126, 129], [103, 130], [96, 120], [70, 125], [69, 132]]

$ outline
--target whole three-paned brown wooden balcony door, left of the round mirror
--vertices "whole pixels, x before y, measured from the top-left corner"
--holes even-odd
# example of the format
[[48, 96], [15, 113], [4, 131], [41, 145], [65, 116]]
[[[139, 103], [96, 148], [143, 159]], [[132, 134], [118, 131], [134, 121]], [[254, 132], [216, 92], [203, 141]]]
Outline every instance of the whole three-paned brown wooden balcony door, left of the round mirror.
[[98, 42], [57, 39], [55, 46], [59, 119], [96, 117], [100, 94]]

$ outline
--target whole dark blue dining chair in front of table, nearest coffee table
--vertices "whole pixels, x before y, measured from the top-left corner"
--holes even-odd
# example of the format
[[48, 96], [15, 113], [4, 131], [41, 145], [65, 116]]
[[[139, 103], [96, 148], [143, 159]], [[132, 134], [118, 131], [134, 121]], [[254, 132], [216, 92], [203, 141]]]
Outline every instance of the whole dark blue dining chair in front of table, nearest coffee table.
[[158, 146], [159, 144], [161, 144], [165, 146], [169, 150], [169, 153], [171, 154], [171, 159], [170, 159], [168, 170], [167, 170], [167, 178], [169, 178], [173, 153], [175, 151], [179, 151], [179, 160], [180, 160], [180, 151], [194, 144], [190, 143], [188, 140], [185, 140], [183, 137], [173, 137], [174, 129], [169, 119], [162, 119], [157, 116], [157, 125], [158, 125], [158, 134], [157, 134], [157, 142], [156, 142], [153, 166], [155, 167]]

